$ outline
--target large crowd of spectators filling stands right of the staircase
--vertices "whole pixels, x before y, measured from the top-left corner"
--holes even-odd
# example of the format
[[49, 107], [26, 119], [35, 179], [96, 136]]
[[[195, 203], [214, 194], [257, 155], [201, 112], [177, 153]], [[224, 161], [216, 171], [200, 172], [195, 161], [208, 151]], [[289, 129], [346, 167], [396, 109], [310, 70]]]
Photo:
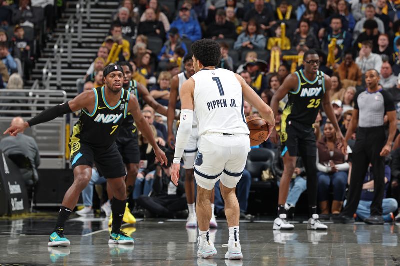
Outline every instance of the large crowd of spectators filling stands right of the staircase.
[[[185, 71], [183, 58], [190, 54], [191, 43], [212, 38], [221, 47], [219, 67], [239, 73], [269, 104], [283, 80], [302, 67], [304, 52], [314, 49], [320, 57], [320, 71], [331, 76], [330, 99], [344, 134], [351, 120], [354, 95], [357, 90], [365, 89], [363, 75], [368, 69], [380, 73], [381, 88], [393, 95], [397, 112], [400, 112], [399, 18], [400, 1], [394, 0], [181, 0], [174, 5], [162, 0], [123, 0], [113, 15], [109, 35], [104, 36], [97, 57], [86, 73], [85, 88], [101, 85], [101, 69], [105, 65], [128, 61], [133, 67], [133, 79], [147, 87], [159, 104], [167, 106], [172, 77]], [[2, 49], [0, 46], [4, 64], [11, 67]], [[280, 103], [280, 115], [286, 101], [287, 98]], [[165, 142], [166, 136], [159, 126], [165, 120], [150, 108], [143, 109], [143, 114], [154, 125], [154, 136]], [[245, 115], [257, 114], [248, 103], [244, 112]], [[277, 131], [280, 128], [278, 122], [279, 117]], [[345, 204], [355, 134], [347, 156], [337, 148], [335, 130], [323, 112], [314, 127], [318, 148], [319, 208], [323, 215], [335, 215]], [[387, 195], [395, 199], [384, 204], [387, 221], [394, 219], [400, 200], [398, 133], [393, 156], [387, 160]], [[136, 182], [136, 198], [143, 191], [145, 196], [151, 193], [155, 178], [169, 175], [165, 169], [162, 174], [157, 173], [146, 140], [141, 138], [140, 143], [142, 171]], [[279, 144], [267, 141], [252, 147], [262, 148], [275, 151], [276, 162], [270, 170], [274, 176], [272, 180], [278, 184], [282, 171]], [[240, 210], [243, 213], [247, 206], [242, 202], [247, 201], [249, 186], [256, 178], [261, 177], [243, 175], [242, 188], [237, 191], [242, 199]], [[288, 209], [295, 207], [306, 190], [305, 179], [306, 173], [299, 161], [286, 203]], [[157, 186], [159, 182], [162, 180], [157, 179]], [[359, 212], [357, 210], [361, 220], [367, 216], [365, 208], [373, 197], [371, 182], [373, 176], [369, 171]], [[219, 212], [222, 205], [217, 197], [215, 195], [215, 206]]]

